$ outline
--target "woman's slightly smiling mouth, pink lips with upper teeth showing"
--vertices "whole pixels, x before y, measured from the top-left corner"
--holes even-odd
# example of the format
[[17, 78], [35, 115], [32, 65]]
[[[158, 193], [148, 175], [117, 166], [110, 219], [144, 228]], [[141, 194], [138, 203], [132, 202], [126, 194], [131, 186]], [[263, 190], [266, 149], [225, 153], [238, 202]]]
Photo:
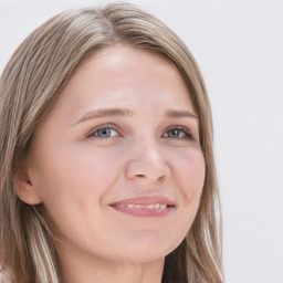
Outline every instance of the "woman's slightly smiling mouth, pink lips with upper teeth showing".
[[161, 196], [125, 199], [109, 206], [118, 212], [140, 217], [164, 217], [176, 208], [171, 200]]

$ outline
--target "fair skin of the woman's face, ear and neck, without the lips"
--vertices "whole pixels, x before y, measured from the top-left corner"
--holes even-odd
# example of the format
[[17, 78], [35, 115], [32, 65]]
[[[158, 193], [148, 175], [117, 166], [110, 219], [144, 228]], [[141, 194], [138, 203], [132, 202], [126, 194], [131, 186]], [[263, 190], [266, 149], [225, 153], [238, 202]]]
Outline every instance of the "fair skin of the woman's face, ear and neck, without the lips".
[[[36, 127], [18, 181], [19, 197], [43, 202], [60, 231], [64, 283], [161, 281], [199, 207], [198, 138], [186, 84], [160, 55], [115, 45], [76, 69]], [[145, 217], [109, 206], [140, 196], [175, 207]]]

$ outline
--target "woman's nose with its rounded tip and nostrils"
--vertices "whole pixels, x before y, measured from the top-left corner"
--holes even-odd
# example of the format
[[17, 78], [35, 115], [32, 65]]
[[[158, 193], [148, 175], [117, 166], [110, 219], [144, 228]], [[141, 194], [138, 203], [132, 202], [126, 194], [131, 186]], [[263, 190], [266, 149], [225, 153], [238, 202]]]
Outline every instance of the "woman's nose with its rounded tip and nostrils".
[[126, 166], [126, 177], [147, 184], [164, 182], [170, 176], [165, 153], [157, 145], [147, 144], [137, 147]]

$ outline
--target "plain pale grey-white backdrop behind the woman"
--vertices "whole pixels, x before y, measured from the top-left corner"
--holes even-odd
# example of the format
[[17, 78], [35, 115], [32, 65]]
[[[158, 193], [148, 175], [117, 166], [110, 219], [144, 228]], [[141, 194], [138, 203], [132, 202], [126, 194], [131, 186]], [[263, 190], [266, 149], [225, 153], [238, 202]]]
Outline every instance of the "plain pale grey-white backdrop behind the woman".
[[[0, 72], [51, 15], [108, 1], [0, 0]], [[228, 283], [283, 282], [283, 6], [275, 0], [132, 0], [189, 46], [210, 95]]]

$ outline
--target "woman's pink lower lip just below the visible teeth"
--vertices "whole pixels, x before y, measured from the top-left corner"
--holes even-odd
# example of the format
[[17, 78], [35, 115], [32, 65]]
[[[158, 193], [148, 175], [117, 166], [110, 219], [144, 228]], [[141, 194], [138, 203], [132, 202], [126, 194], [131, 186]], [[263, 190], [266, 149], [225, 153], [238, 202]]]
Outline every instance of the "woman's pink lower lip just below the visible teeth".
[[111, 206], [116, 211], [137, 216], [137, 217], [165, 217], [174, 210], [174, 207], [167, 207], [166, 209], [146, 209], [146, 208], [123, 208], [118, 206]]

